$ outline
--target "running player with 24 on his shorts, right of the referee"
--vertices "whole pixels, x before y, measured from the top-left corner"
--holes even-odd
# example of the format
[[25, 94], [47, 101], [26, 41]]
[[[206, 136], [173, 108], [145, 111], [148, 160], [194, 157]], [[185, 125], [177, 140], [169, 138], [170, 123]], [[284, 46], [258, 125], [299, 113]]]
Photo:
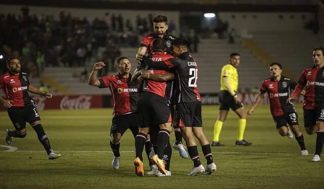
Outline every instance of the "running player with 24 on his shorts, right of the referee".
[[[295, 106], [292, 103], [287, 103], [289, 94], [291, 90], [296, 87], [297, 83], [292, 79], [281, 75], [281, 73], [281, 64], [272, 63], [270, 65], [271, 77], [262, 81], [260, 92], [258, 93], [252, 108], [248, 111], [248, 114], [253, 114], [255, 108], [262, 101], [264, 93], [268, 92], [270, 111], [279, 134], [281, 136], [293, 138], [294, 133], [300, 146], [302, 156], [306, 156], [308, 155], [308, 151], [304, 144], [303, 133], [301, 133], [298, 128], [298, 115]], [[290, 128], [287, 127], [287, 123], [290, 125], [293, 133]]]

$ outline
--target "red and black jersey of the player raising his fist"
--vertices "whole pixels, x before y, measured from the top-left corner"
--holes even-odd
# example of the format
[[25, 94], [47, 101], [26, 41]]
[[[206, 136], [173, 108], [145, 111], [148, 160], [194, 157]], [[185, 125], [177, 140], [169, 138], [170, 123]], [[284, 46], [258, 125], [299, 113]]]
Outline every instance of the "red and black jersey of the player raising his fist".
[[137, 111], [137, 87], [138, 84], [129, 78], [123, 78], [120, 74], [108, 75], [99, 79], [99, 88], [109, 88], [113, 98], [113, 117], [130, 114]]

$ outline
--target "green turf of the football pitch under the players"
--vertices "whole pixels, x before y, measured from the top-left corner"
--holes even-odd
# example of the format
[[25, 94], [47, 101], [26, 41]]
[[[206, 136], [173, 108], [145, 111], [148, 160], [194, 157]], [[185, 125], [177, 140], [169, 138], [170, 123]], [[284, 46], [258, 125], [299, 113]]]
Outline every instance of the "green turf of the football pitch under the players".
[[[210, 140], [217, 109], [217, 106], [203, 107], [204, 130]], [[217, 172], [196, 177], [186, 176], [192, 162], [181, 159], [175, 151], [171, 177], [137, 177], [133, 166], [134, 152], [122, 152], [120, 168], [113, 170], [109, 146], [111, 112], [111, 109], [41, 111], [42, 124], [52, 147], [63, 157], [48, 160], [35, 132], [28, 125], [25, 138], [14, 138], [12, 146], [18, 148], [17, 152], [4, 152], [7, 149], [0, 147], [0, 188], [324, 187], [323, 162], [310, 162], [311, 155], [300, 156], [295, 139], [279, 136], [268, 106], [258, 107], [255, 114], [248, 117], [245, 138], [253, 143], [250, 147], [234, 145], [237, 116], [230, 113], [220, 137], [226, 146], [212, 148]], [[313, 154], [316, 136], [306, 134], [300, 107], [298, 112], [306, 147]], [[13, 128], [7, 113], [0, 112], [0, 130], [4, 131], [8, 126]], [[5, 132], [2, 136], [0, 145], [6, 145]], [[171, 134], [173, 141], [174, 134]], [[200, 147], [198, 149], [201, 151]], [[130, 131], [123, 136], [120, 150], [135, 151]], [[201, 160], [206, 165], [203, 156]], [[147, 165], [146, 159], [144, 164]], [[148, 166], [145, 169], [147, 171]]]

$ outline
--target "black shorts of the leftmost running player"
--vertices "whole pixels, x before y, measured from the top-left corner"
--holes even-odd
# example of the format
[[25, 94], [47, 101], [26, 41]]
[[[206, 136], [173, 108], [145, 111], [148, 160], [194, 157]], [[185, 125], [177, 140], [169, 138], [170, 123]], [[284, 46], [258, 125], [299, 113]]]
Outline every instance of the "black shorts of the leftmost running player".
[[14, 124], [16, 130], [26, 128], [26, 122], [33, 123], [41, 120], [37, 109], [33, 105], [24, 107], [11, 107], [8, 108], [8, 115], [11, 122]]

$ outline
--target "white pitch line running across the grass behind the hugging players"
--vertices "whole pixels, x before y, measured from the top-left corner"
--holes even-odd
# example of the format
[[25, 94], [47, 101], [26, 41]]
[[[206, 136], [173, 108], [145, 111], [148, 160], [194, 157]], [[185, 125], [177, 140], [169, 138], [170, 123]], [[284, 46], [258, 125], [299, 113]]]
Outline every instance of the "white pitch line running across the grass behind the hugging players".
[[[0, 146], [1, 147], [1, 146]], [[2, 146], [2, 147], [8, 147], [8, 146]], [[15, 147], [14, 147], [15, 148]], [[28, 153], [34, 153], [34, 152], [44, 152], [44, 151], [28, 151], [28, 150], [19, 150], [17, 151], [17, 148], [14, 151], [0, 151], [0, 152], [28, 152]], [[55, 151], [59, 153], [112, 153], [111, 151]], [[176, 152], [176, 151], [175, 151]], [[120, 151], [120, 153], [135, 153], [135, 151]], [[199, 152], [202, 153], [202, 152]], [[285, 153], [257, 153], [257, 152], [212, 152], [213, 154], [250, 154], [250, 155], [300, 155], [300, 154], [285, 154]]]

